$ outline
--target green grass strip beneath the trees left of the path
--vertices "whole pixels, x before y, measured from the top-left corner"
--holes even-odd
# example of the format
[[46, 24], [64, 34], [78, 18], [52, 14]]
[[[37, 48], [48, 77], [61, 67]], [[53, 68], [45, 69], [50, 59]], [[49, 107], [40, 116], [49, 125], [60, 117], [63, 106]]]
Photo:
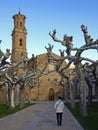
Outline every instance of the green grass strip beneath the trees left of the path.
[[20, 110], [22, 110], [24, 108], [27, 108], [27, 107], [29, 107], [31, 105], [33, 105], [33, 103], [32, 104], [25, 103], [23, 108], [20, 108], [19, 106], [16, 106], [14, 109], [9, 109], [7, 105], [2, 104], [2, 105], [0, 105], [0, 118], [3, 118], [5, 116], [7, 116], [7, 115], [16, 113], [16, 112], [18, 112], [18, 111], [20, 111]]

